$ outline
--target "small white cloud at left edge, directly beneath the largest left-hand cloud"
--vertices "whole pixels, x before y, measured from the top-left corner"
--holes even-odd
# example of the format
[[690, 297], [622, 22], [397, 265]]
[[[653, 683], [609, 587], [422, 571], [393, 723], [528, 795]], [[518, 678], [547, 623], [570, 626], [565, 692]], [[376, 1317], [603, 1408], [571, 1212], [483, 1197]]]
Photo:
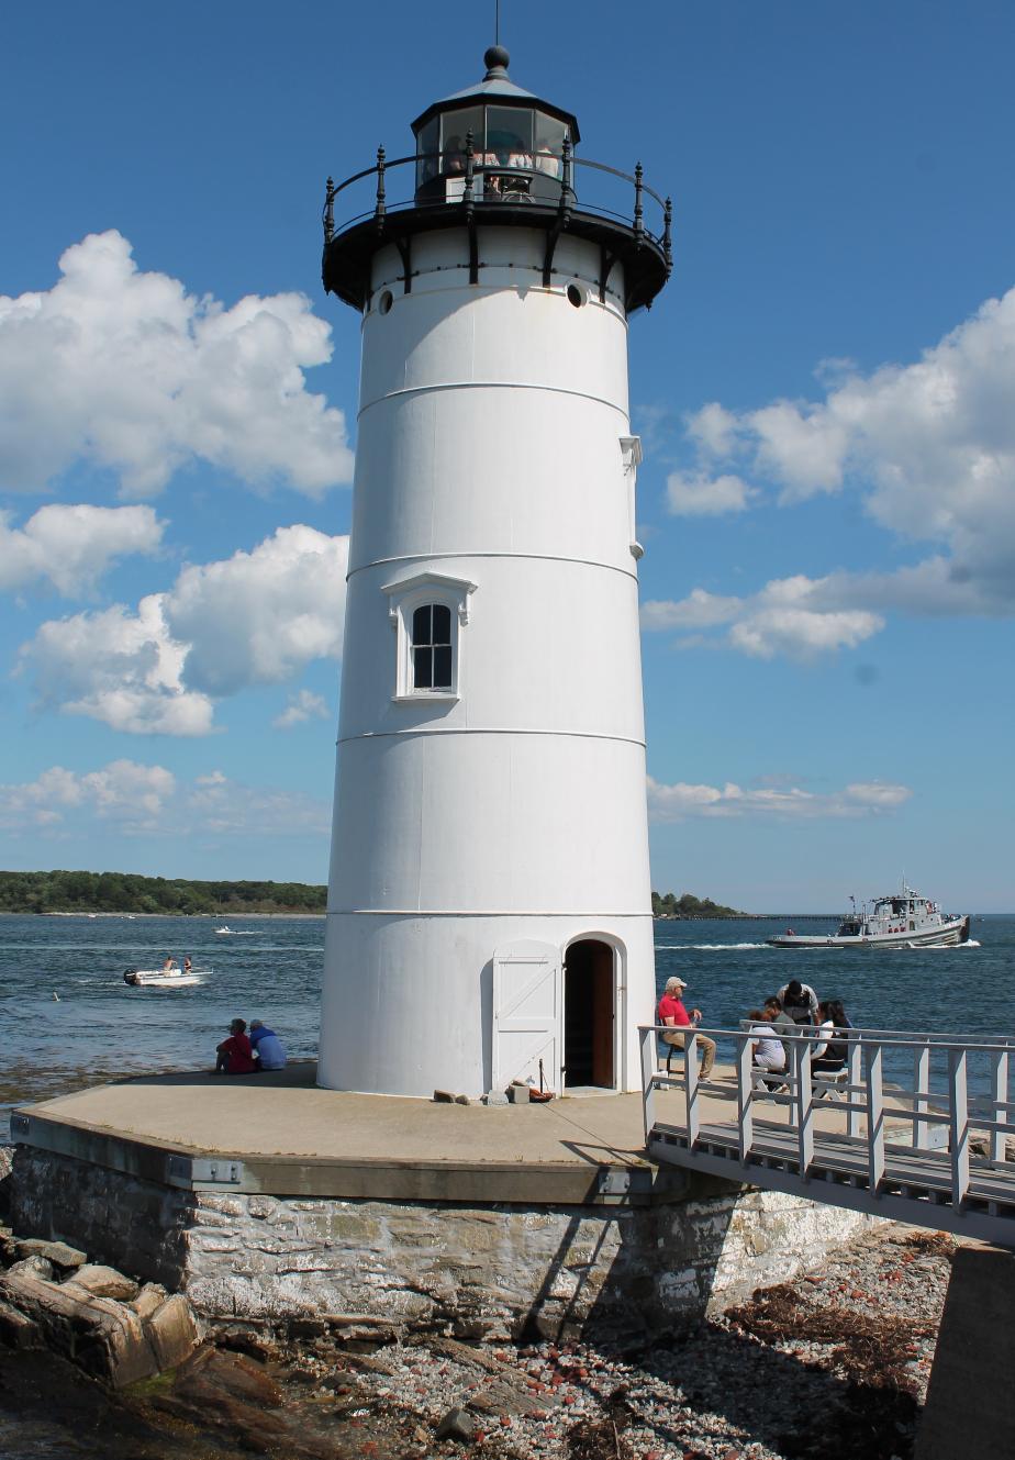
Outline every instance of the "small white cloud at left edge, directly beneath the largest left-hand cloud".
[[118, 558], [158, 552], [165, 523], [150, 507], [41, 507], [23, 527], [0, 511], [0, 590], [50, 583], [57, 593], [91, 593]]

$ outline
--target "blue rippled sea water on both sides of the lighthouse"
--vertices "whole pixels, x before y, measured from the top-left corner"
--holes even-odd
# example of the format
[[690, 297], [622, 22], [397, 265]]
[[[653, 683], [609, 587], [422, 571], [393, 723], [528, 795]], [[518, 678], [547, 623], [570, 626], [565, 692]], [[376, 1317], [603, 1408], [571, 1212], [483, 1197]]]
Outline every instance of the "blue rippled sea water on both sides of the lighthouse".
[[[834, 918], [793, 918], [797, 931]], [[210, 1066], [237, 1015], [264, 1019], [294, 1057], [317, 1048], [324, 918], [0, 917], [0, 1133], [13, 1105], [102, 1077]], [[841, 999], [856, 1025], [1015, 1034], [1015, 917], [974, 917], [962, 948], [780, 952], [786, 918], [656, 923], [656, 975], [688, 1006], [736, 1026], [787, 978]], [[190, 953], [203, 981], [130, 988], [129, 967]], [[55, 997], [54, 997], [55, 996]], [[653, 1010], [640, 1013], [650, 1022]]]

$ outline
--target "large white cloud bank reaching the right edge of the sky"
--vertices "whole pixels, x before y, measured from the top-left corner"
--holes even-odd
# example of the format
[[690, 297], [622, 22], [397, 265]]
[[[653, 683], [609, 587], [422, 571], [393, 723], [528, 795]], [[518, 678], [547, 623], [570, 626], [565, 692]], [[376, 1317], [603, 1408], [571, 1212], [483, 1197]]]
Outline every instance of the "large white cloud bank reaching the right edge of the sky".
[[[869, 374], [851, 361], [822, 362], [818, 378], [825, 388], [816, 400], [743, 412], [710, 402], [691, 416], [697, 460], [670, 477], [672, 508], [701, 511], [710, 491], [738, 510], [751, 504], [751, 486], [738, 507], [732, 486], [710, 488], [719, 482], [768, 482], [783, 505], [856, 491], [876, 523], [930, 543], [933, 556], [894, 574], [832, 575], [812, 609], [821, 597], [825, 612], [841, 613], [1015, 613], [1015, 289], [987, 299], [917, 361]], [[866, 634], [856, 619], [840, 629], [835, 642]], [[748, 632], [746, 642], [777, 637]]]

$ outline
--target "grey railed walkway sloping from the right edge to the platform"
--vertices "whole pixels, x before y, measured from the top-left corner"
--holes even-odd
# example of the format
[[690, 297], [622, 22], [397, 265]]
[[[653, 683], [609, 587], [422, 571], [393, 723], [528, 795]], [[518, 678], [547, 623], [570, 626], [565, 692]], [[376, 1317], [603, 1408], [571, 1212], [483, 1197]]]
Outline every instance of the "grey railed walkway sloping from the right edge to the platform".
[[[812, 1070], [815, 1028], [773, 1028], [787, 1050], [773, 1073], [746, 1026], [689, 1028], [667, 1075], [663, 1028], [640, 1032], [653, 1161], [1015, 1248], [1015, 1038], [850, 1029], [834, 1073]], [[708, 1079], [700, 1034], [723, 1061]]]

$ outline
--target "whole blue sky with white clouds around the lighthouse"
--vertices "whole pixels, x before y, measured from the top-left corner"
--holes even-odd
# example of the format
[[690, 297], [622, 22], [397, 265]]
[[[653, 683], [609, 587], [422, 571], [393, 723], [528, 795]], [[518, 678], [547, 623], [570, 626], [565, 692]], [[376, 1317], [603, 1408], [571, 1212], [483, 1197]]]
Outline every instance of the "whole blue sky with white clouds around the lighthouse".
[[[501, 9], [513, 79], [675, 199], [631, 327], [654, 886], [1011, 910], [1015, 10]], [[7, 13], [0, 866], [326, 879], [358, 320], [323, 182], [479, 79], [461, 16]]]

